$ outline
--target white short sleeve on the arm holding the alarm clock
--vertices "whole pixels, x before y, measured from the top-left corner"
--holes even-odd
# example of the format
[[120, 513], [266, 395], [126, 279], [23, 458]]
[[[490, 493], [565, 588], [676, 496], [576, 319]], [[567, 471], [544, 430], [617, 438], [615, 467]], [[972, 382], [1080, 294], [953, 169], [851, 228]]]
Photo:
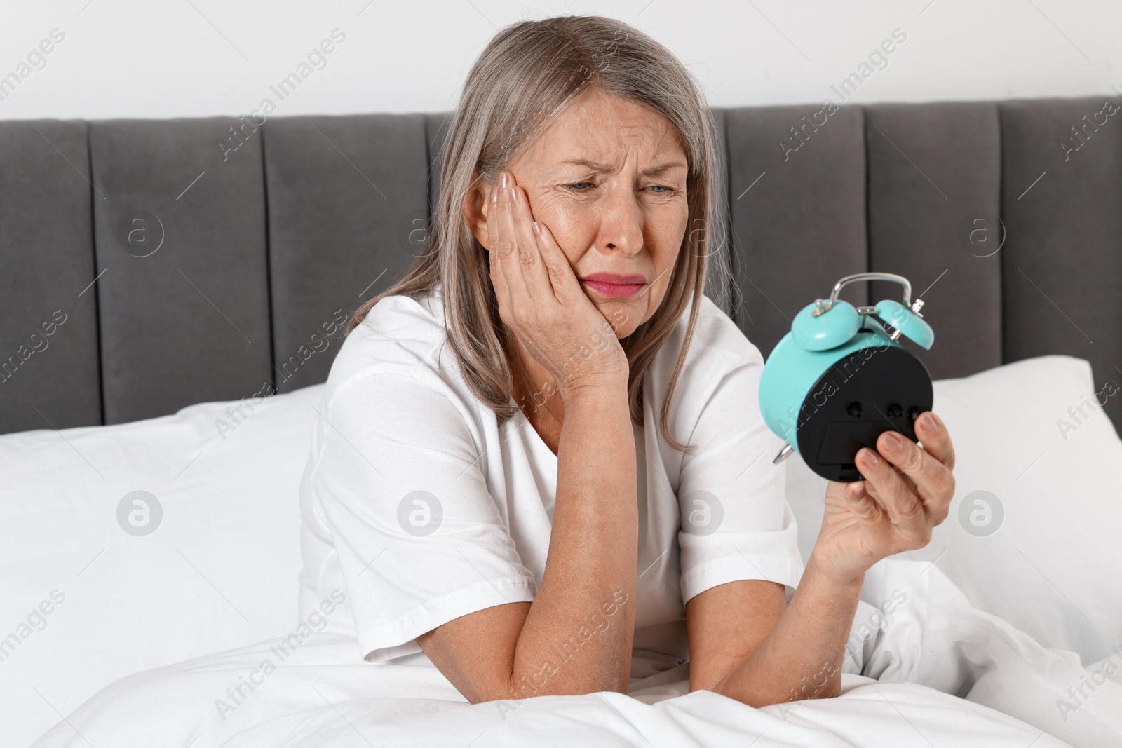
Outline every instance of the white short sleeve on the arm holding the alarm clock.
[[746, 354], [715, 375], [716, 386], [689, 440], [697, 446], [682, 462], [678, 539], [683, 602], [726, 582], [760, 579], [793, 589], [802, 576], [785, 465], [772, 464], [783, 442], [760, 414], [763, 357], [746, 340], [739, 342]]

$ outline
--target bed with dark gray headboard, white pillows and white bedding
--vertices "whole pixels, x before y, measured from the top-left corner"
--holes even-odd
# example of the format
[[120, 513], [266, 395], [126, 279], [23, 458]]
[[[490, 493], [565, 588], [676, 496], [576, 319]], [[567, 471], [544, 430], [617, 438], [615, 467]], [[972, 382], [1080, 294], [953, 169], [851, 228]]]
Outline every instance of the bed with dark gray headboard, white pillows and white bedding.
[[[766, 353], [837, 278], [909, 277], [958, 454], [931, 544], [866, 576], [843, 695], [760, 710], [686, 664], [471, 705], [296, 620], [313, 405], [343, 315], [423, 241], [442, 114], [0, 123], [3, 745], [1122, 745], [1103, 105], [714, 111], [736, 285], [710, 295]], [[785, 464], [806, 556], [824, 487]]]

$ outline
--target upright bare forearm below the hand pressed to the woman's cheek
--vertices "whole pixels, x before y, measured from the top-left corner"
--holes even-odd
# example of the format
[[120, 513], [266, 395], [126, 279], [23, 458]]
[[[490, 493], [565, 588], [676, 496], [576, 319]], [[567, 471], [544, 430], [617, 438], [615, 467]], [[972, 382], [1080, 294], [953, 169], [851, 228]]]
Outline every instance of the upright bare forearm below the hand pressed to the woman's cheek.
[[564, 401], [545, 572], [518, 637], [517, 698], [626, 691], [638, 509], [626, 385]]

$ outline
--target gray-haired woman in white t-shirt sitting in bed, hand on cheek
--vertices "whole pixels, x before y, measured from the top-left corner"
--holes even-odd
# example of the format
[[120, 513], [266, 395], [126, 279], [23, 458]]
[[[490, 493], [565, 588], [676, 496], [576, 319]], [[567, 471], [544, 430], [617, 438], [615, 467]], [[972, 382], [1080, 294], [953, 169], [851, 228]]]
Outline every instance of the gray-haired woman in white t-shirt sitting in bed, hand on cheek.
[[302, 484], [302, 608], [346, 589], [332, 627], [368, 661], [423, 652], [472, 703], [687, 658], [753, 707], [838, 694], [864, 573], [928, 543], [954, 451], [932, 413], [922, 446], [862, 450], [803, 569], [763, 358], [703, 295], [715, 154], [631, 26], [526, 21], [480, 55], [424, 252], [351, 320]]

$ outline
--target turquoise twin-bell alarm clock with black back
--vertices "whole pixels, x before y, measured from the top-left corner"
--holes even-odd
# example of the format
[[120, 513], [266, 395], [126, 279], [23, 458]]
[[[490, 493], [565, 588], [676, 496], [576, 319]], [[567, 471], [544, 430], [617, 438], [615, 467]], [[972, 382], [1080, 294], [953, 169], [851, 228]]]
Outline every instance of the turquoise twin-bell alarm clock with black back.
[[[903, 302], [855, 307], [839, 299], [842, 287], [855, 280], [899, 283]], [[772, 462], [793, 451], [822, 478], [862, 480], [854, 463], [861, 447], [875, 450], [877, 436], [891, 430], [916, 440], [916, 417], [931, 409], [931, 377], [896, 341], [903, 335], [931, 348], [935, 332], [922, 306], [922, 299], [911, 301], [903, 276], [858, 273], [794, 316], [760, 378], [760, 412], [787, 442]]]

